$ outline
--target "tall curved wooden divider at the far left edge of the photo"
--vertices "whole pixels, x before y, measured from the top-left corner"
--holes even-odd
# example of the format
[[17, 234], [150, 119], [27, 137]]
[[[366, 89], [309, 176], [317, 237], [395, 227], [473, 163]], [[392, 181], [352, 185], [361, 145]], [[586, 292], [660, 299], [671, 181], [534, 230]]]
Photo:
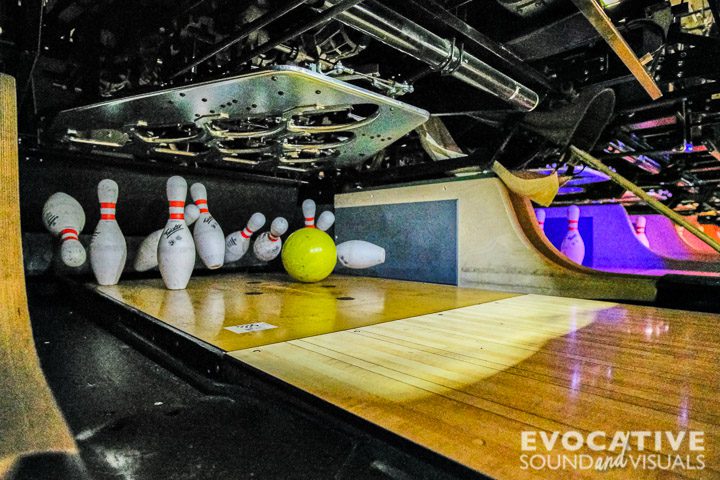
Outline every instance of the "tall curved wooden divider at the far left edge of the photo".
[[15, 80], [0, 74], [0, 478], [19, 456], [77, 448], [40, 369], [20, 237]]

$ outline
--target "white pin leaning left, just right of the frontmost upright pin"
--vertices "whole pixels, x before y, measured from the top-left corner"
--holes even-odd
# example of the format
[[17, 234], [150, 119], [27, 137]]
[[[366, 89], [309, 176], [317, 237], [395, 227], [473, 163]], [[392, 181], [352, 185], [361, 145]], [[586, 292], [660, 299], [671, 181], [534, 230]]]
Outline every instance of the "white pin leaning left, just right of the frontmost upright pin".
[[223, 265], [225, 258], [225, 234], [217, 221], [210, 215], [207, 206], [207, 190], [202, 183], [193, 183], [190, 187], [195, 204], [200, 209], [200, 218], [195, 222], [193, 238], [200, 260], [210, 270]]

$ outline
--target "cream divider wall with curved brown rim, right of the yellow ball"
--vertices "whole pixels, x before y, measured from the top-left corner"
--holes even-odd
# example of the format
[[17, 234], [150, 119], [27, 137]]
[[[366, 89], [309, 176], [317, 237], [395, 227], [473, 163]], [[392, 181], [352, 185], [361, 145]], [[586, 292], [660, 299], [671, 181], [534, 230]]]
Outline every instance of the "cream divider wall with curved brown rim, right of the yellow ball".
[[335, 208], [434, 200], [457, 200], [461, 287], [595, 299], [655, 298], [650, 277], [599, 272], [568, 260], [541, 234], [530, 202], [509, 193], [496, 178], [341, 194], [335, 196]]

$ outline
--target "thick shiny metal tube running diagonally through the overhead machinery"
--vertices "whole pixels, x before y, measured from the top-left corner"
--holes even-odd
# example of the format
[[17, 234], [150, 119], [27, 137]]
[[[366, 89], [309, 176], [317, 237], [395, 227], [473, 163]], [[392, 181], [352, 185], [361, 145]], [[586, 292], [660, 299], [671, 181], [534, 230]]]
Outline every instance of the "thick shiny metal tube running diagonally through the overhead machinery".
[[[336, 0], [329, 0], [333, 6]], [[336, 19], [345, 25], [375, 38], [401, 52], [445, 70], [453, 77], [505, 100], [523, 111], [533, 110], [540, 103], [539, 95], [496, 70], [453, 42], [442, 38], [402, 15], [372, 0], [355, 6]]]

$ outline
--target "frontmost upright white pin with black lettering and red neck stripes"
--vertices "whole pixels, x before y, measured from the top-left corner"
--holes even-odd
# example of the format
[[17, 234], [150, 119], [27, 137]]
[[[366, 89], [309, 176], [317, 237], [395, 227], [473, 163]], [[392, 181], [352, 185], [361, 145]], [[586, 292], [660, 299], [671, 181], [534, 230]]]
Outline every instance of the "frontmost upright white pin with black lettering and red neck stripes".
[[170, 290], [187, 287], [195, 266], [195, 242], [185, 224], [187, 182], [174, 176], [167, 182], [170, 216], [158, 242], [158, 267], [165, 286]]

